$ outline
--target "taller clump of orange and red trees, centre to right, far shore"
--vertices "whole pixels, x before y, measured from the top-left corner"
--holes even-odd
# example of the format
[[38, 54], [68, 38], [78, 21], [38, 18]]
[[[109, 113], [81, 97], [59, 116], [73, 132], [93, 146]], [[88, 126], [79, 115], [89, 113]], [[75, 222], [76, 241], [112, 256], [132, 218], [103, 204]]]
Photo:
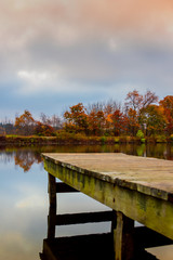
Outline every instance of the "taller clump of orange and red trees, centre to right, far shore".
[[64, 129], [86, 135], [132, 135], [141, 130], [146, 136], [173, 133], [173, 96], [160, 102], [146, 91], [144, 95], [133, 90], [127, 94], [124, 104], [115, 101], [95, 103], [84, 107], [82, 103], [69, 107], [64, 114]]

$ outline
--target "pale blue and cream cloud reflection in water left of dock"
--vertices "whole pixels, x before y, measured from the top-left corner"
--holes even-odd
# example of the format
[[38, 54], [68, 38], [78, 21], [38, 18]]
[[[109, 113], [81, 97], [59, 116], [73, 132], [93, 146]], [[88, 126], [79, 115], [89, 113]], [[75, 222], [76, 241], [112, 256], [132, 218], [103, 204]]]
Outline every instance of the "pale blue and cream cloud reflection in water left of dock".
[[16, 172], [13, 161], [0, 162], [0, 259], [39, 259], [46, 233], [46, 174], [39, 165], [29, 174]]

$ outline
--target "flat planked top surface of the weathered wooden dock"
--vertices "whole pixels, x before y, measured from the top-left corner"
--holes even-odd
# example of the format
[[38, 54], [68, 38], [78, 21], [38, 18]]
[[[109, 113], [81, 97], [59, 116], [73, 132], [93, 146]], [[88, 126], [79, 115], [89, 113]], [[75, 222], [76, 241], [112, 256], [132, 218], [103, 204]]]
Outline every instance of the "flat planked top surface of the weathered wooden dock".
[[43, 157], [81, 174], [173, 200], [173, 161], [111, 153], [43, 154]]

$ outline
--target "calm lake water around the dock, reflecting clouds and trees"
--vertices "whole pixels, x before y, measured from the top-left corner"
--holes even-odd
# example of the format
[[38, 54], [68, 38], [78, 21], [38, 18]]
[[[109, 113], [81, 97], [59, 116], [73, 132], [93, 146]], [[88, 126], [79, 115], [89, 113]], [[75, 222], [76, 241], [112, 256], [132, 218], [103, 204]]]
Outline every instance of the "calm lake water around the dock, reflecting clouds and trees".
[[[0, 147], [0, 260], [39, 260], [48, 232], [48, 173], [41, 153], [127, 153], [173, 159], [173, 146], [41, 146]], [[81, 193], [59, 194], [58, 213], [104, 211], [108, 208]], [[107, 233], [110, 223], [90, 223], [56, 227], [56, 237]], [[173, 246], [149, 249], [160, 260], [173, 259]], [[107, 258], [108, 259], [108, 258]]]

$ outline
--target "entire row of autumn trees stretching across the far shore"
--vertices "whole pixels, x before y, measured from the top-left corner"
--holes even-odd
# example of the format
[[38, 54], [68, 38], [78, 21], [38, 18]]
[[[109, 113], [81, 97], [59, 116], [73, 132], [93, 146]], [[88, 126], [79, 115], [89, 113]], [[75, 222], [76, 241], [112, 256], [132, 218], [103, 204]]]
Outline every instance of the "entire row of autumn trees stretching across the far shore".
[[[160, 100], [151, 92], [141, 94], [133, 90], [127, 94], [123, 104], [117, 101], [97, 102], [84, 106], [82, 103], [70, 106], [61, 117], [40, 115], [35, 120], [29, 110], [15, 117], [11, 132], [22, 135], [56, 135], [64, 131], [81, 133], [88, 136], [135, 136], [143, 132], [145, 136], [173, 134], [173, 95]], [[5, 134], [4, 125], [0, 125], [0, 133]]]

